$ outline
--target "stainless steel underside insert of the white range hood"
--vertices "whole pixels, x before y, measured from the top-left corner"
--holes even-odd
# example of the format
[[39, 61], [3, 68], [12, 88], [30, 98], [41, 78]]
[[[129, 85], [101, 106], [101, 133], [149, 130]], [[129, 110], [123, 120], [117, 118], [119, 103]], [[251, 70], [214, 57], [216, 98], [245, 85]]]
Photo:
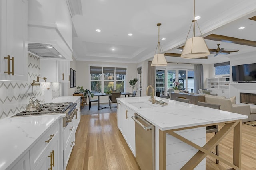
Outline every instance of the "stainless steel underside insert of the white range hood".
[[28, 43], [28, 51], [42, 58], [64, 59], [64, 57], [50, 44]]

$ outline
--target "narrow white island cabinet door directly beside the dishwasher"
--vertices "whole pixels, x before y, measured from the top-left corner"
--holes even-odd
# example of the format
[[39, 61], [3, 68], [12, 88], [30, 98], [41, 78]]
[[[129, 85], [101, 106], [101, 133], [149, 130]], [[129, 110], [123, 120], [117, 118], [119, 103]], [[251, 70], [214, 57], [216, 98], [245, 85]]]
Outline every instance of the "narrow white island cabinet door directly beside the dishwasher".
[[135, 121], [132, 119], [132, 116], [134, 116], [134, 112], [129, 109], [129, 147], [132, 150], [132, 153], [135, 155]]

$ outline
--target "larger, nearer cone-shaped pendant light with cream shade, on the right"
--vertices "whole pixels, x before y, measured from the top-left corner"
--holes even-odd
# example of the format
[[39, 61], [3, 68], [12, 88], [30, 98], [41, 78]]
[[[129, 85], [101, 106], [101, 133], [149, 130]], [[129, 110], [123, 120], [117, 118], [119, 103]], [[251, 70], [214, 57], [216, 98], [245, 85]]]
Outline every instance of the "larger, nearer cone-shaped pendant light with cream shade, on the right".
[[[190, 29], [191, 29], [191, 26], [193, 24], [193, 33], [192, 33], [193, 35], [192, 35], [192, 38], [188, 39], [188, 36], [186, 38], [186, 43], [183, 47], [183, 51], [180, 56], [182, 58], [195, 59], [195, 58], [205, 57], [210, 54], [209, 49], [204, 41], [204, 38], [202, 37], [202, 33], [199, 26], [198, 26], [198, 29], [201, 33], [201, 36], [195, 37], [195, 23], [198, 26], [198, 23], [195, 20], [195, 0], [194, 0], [194, 19], [192, 20], [192, 23], [190, 25]], [[188, 31], [188, 35], [190, 32], [190, 29]]]

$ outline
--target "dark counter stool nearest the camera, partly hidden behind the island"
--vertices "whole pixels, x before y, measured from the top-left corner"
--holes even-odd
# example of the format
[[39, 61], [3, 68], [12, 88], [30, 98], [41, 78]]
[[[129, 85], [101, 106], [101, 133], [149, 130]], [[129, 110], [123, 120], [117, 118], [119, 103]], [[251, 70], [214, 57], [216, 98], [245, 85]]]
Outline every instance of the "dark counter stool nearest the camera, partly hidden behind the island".
[[[220, 105], [218, 105], [218, 104], [211, 104], [211, 103], [205, 103], [205, 102], [198, 101], [197, 105], [204, 106], [204, 107], [210, 107], [212, 109], [220, 109]], [[213, 133], [213, 132], [216, 135], [216, 133], [218, 132], [218, 125], [206, 126], [206, 133]], [[215, 154], [217, 156], [219, 156], [219, 144], [216, 145], [215, 152], [216, 152]], [[218, 164], [218, 163], [219, 163], [219, 160], [216, 159], [216, 164]]]

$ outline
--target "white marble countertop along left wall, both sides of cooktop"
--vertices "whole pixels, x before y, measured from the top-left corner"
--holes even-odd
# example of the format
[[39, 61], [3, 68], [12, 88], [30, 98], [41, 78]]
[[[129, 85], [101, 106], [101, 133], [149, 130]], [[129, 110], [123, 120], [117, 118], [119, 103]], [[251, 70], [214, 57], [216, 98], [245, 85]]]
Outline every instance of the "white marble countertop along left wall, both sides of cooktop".
[[[76, 102], [80, 96], [58, 97], [53, 103]], [[44, 132], [66, 114], [6, 117], [0, 119], [0, 170], [5, 170], [36, 143]]]

